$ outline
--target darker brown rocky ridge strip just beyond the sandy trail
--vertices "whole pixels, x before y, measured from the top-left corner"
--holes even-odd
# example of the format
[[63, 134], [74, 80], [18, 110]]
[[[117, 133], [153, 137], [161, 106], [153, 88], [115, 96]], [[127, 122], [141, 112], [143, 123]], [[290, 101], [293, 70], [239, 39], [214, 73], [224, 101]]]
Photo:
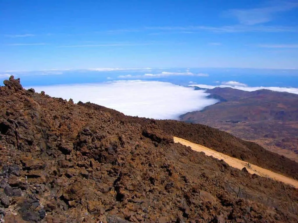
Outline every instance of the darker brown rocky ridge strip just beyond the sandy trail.
[[204, 145], [220, 153], [247, 161], [257, 166], [271, 169], [288, 177], [298, 179], [298, 163], [284, 156], [269, 152], [253, 142], [241, 140], [224, 131], [219, 131], [207, 125], [178, 122], [175, 120], [153, 120], [125, 116], [114, 110], [93, 103], [78, 103], [92, 110], [108, 112], [115, 120], [138, 123], [146, 126], [154, 122], [164, 133], [177, 136], [193, 143]]

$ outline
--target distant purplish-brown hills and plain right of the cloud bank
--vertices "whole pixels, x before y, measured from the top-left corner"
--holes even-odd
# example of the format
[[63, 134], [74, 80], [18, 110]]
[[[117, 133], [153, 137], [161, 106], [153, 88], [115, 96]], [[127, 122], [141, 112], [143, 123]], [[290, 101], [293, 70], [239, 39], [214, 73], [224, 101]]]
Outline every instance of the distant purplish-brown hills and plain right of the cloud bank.
[[182, 121], [227, 131], [298, 162], [298, 95], [220, 87], [206, 92], [219, 102], [182, 115]]

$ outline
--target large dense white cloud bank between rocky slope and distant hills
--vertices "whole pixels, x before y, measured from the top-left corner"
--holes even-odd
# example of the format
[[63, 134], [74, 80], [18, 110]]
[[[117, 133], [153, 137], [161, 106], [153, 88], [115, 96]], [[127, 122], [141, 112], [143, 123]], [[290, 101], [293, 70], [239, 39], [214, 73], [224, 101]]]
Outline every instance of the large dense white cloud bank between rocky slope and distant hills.
[[111, 81], [33, 88], [53, 97], [72, 98], [75, 102], [90, 101], [127, 115], [156, 119], [176, 119], [181, 114], [201, 110], [217, 102], [207, 99], [208, 94], [203, 91], [160, 81]]

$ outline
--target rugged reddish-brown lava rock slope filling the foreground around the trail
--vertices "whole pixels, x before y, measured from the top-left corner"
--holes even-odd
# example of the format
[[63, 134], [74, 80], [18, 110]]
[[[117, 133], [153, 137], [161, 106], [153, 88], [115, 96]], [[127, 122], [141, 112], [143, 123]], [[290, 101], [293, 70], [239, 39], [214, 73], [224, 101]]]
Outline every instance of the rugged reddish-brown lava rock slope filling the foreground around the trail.
[[[254, 153], [262, 148], [254, 144], [207, 126], [51, 98], [23, 89], [13, 77], [4, 85], [1, 221], [298, 222], [296, 189], [231, 168], [172, 137], [235, 156], [241, 150], [257, 162]], [[296, 163], [264, 154], [297, 178]]]

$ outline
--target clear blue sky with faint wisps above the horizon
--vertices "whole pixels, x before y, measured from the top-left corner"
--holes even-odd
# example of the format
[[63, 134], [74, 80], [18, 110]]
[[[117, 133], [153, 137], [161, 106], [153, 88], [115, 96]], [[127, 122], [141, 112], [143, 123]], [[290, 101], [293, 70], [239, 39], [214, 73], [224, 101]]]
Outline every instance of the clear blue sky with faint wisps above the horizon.
[[298, 1], [0, 1], [0, 70], [298, 69]]

